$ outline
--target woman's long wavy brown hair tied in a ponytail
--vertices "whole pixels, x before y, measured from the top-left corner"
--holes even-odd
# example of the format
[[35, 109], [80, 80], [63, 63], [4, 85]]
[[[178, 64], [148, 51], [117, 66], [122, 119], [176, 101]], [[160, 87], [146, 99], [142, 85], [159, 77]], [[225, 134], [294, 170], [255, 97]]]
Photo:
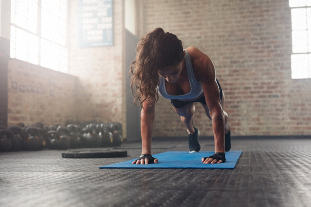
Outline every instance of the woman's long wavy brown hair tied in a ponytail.
[[183, 45], [176, 35], [156, 28], [143, 36], [136, 47], [136, 59], [131, 64], [131, 88], [134, 104], [142, 106], [147, 99], [158, 101], [158, 70], [179, 64], [184, 57]]

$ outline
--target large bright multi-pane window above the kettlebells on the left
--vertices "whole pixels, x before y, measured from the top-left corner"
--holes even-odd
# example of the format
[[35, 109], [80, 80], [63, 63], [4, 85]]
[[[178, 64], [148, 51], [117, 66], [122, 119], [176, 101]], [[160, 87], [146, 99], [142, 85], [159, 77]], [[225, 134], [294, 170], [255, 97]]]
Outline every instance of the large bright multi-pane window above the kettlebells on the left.
[[68, 72], [67, 0], [11, 0], [11, 58]]

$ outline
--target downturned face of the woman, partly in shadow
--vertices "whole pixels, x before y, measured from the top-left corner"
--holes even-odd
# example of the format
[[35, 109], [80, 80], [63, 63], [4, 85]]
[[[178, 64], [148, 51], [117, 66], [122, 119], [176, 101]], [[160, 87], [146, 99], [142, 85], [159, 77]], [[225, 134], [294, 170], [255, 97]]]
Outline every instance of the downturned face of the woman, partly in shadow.
[[[184, 61], [184, 60], [183, 60]], [[183, 70], [183, 61], [174, 66], [166, 66], [158, 70], [158, 74], [162, 76], [167, 82], [174, 83]]]

